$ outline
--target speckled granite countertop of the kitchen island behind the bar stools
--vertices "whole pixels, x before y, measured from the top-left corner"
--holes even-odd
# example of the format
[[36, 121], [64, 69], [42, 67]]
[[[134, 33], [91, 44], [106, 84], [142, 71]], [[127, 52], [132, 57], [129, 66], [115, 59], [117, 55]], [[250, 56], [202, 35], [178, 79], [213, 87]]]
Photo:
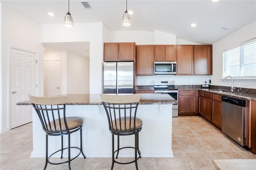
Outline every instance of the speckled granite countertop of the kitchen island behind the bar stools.
[[[67, 105], [101, 105], [100, 94], [67, 94]], [[139, 104], [176, 104], [168, 94], [141, 94]], [[31, 105], [30, 101], [18, 102], [17, 105]]]

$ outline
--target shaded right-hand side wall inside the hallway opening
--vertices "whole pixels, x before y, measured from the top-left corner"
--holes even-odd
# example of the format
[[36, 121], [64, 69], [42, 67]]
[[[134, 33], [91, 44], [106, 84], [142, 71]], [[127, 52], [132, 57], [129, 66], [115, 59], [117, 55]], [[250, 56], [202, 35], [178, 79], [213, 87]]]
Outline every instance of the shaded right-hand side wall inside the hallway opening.
[[90, 93], [90, 60], [67, 52], [67, 93]]

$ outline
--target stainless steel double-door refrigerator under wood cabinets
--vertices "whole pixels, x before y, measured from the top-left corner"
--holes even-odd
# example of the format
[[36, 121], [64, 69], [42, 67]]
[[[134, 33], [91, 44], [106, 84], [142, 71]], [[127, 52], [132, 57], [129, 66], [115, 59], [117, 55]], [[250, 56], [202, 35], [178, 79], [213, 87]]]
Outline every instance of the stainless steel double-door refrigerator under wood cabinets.
[[133, 94], [134, 63], [105, 62], [103, 74], [103, 93]]

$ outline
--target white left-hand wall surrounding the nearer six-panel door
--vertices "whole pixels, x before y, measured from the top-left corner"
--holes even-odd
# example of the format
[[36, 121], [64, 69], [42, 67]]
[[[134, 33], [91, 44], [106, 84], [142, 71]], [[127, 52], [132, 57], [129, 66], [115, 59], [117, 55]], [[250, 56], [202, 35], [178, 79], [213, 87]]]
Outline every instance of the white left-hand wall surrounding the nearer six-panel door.
[[[40, 43], [40, 24], [2, 4], [2, 132], [10, 129], [9, 47], [38, 53], [39, 72], [43, 71], [43, 46]], [[42, 74], [41, 74], [42, 75]], [[38, 94], [43, 95], [43, 76], [38, 79]]]

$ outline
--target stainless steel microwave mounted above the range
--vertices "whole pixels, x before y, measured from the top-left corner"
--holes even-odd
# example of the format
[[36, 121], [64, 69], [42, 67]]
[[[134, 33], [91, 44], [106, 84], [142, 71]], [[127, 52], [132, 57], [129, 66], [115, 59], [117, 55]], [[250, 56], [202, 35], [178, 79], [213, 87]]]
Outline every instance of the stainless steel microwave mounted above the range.
[[155, 61], [154, 74], [176, 74], [176, 61]]

